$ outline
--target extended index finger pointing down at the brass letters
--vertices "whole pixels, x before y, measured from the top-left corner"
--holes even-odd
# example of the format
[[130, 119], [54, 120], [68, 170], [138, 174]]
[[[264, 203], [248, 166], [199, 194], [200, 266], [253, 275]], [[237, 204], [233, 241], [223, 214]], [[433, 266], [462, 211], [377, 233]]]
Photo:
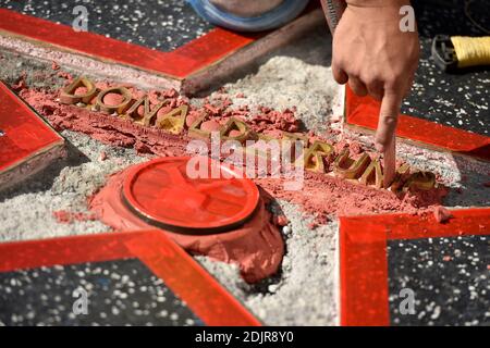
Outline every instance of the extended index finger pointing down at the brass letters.
[[375, 147], [379, 152], [384, 152], [394, 136], [401, 103], [402, 97], [397, 92], [384, 92], [375, 137]]

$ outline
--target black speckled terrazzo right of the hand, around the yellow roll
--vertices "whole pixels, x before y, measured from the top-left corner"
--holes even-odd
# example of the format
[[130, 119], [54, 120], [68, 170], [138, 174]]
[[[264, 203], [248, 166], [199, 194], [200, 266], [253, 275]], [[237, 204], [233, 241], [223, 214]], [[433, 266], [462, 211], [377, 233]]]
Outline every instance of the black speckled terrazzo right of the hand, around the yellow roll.
[[[451, 36], [487, 34], [465, 16], [463, 0], [453, 1], [453, 7], [440, 3], [444, 1], [413, 1], [421, 51], [412, 94], [405, 99], [402, 112], [488, 136], [490, 67], [446, 74], [436, 66], [431, 59], [432, 38], [438, 34]], [[490, 2], [476, 0], [469, 9], [475, 21], [490, 30]]]

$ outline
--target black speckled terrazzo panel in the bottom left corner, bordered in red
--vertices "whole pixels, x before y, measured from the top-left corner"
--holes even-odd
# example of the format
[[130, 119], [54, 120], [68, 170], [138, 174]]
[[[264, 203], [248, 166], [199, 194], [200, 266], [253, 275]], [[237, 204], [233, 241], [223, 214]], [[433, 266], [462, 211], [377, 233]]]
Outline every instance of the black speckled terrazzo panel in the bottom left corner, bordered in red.
[[[87, 294], [87, 313], [74, 302]], [[83, 308], [81, 304], [76, 308]], [[1, 325], [203, 325], [135, 259], [0, 273]]]

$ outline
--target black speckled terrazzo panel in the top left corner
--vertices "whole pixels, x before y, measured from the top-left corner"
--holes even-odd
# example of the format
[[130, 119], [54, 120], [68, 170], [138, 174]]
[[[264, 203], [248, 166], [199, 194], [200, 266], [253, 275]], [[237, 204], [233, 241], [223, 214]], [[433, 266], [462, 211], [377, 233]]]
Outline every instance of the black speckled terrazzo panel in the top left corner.
[[0, 0], [0, 7], [72, 25], [73, 9], [88, 11], [88, 30], [119, 40], [170, 51], [209, 32], [212, 26], [184, 0]]

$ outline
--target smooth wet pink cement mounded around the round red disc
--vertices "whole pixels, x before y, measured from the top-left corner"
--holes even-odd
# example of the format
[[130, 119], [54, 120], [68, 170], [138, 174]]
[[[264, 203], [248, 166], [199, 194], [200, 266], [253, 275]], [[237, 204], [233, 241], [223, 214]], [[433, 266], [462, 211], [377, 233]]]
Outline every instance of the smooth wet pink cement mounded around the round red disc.
[[[90, 209], [117, 231], [150, 229], [154, 226], [137, 217], [121, 199], [121, 189], [128, 169], [112, 175], [107, 185], [89, 200]], [[255, 283], [274, 274], [284, 254], [284, 243], [272, 215], [261, 198], [254, 216], [242, 227], [206, 236], [167, 235], [193, 254], [235, 263], [246, 282]]]

